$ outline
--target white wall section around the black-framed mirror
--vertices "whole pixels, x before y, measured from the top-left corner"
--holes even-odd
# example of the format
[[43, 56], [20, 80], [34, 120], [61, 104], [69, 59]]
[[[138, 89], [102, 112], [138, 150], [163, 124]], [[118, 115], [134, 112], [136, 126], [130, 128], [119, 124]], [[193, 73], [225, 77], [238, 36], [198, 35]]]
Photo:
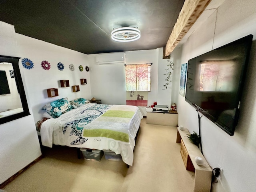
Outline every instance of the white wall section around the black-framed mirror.
[[[18, 56], [14, 26], [0, 22], [0, 55]], [[28, 92], [21, 71], [26, 96]], [[31, 106], [28, 102], [31, 113]], [[0, 125], [0, 183], [41, 155], [33, 115]]]

